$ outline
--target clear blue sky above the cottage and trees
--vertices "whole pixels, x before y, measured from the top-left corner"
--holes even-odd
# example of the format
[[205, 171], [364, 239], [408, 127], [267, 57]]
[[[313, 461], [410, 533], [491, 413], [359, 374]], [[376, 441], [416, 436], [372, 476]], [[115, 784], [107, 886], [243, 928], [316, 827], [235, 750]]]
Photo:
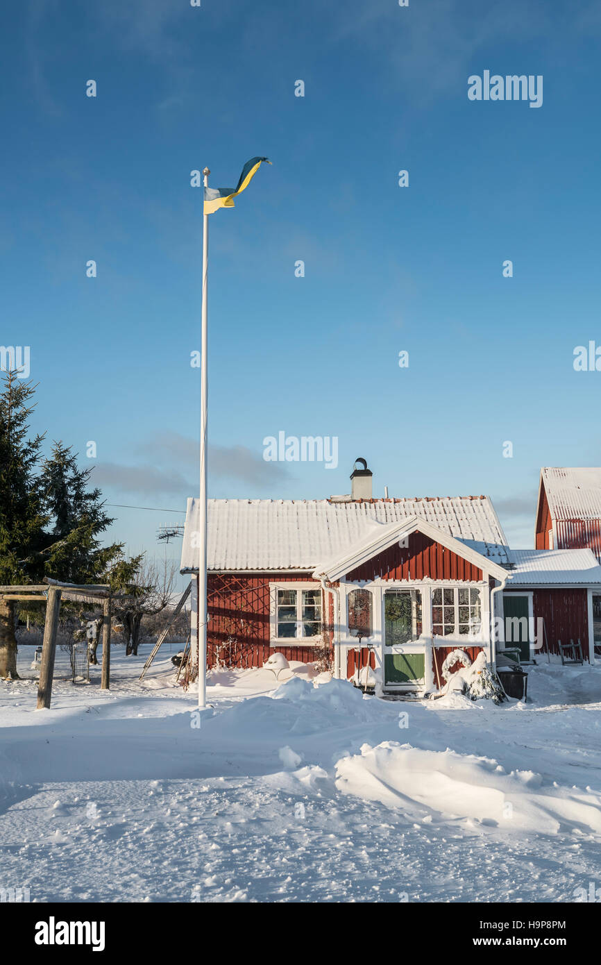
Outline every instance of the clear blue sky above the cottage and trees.
[[[0, 341], [31, 346], [34, 427], [94, 463], [110, 503], [184, 508], [190, 172], [229, 186], [267, 155], [210, 216], [209, 494], [347, 492], [362, 455], [375, 494], [486, 493], [511, 543], [532, 545], [540, 466], [600, 460], [601, 373], [573, 369], [576, 345], [601, 345], [600, 39], [593, 0], [5, 9]], [[485, 69], [542, 74], [542, 106], [470, 101]], [[265, 462], [281, 430], [338, 436], [338, 469]], [[183, 519], [112, 511], [108, 536], [150, 556], [156, 526]]]

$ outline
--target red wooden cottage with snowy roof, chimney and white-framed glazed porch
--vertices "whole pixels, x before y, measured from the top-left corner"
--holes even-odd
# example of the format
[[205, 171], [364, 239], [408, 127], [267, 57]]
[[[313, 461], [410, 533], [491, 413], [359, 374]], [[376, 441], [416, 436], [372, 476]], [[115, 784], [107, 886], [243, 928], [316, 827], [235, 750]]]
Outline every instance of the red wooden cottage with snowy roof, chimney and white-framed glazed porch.
[[[323, 500], [208, 501], [209, 667], [326, 652], [337, 677], [369, 662], [376, 693], [422, 694], [444, 684], [456, 649], [494, 663], [500, 638], [533, 659], [539, 616], [551, 649], [565, 627], [588, 655], [587, 601], [601, 593], [588, 550], [511, 551], [486, 496], [374, 498], [367, 465], [351, 485]], [[181, 571], [193, 590], [197, 533], [189, 500]]]

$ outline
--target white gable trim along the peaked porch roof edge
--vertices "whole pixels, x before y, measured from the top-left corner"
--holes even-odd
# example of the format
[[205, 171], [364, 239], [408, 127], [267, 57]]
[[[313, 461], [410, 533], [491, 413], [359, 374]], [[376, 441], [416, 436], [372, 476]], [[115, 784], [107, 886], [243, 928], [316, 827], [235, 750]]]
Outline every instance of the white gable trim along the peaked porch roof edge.
[[410, 516], [401, 523], [394, 523], [392, 526], [382, 527], [381, 532], [376, 531], [375, 533], [371, 533], [368, 538], [354, 543], [350, 550], [343, 556], [331, 560], [329, 563], [318, 565], [313, 573], [314, 579], [326, 579], [330, 583], [335, 583], [351, 569], [356, 569], [357, 566], [368, 563], [369, 560], [379, 553], [383, 553], [392, 546], [393, 543], [409, 537], [416, 531], [422, 533], [424, 537], [429, 537], [442, 546], [445, 546], [451, 550], [451, 553], [462, 557], [464, 560], [467, 560], [468, 563], [478, 566], [478, 569], [488, 573], [490, 576], [494, 576], [498, 580], [506, 579], [507, 570], [504, 569], [503, 566], [493, 563], [492, 560], [487, 560], [486, 557], [478, 553], [477, 550], [471, 549], [459, 539], [443, 533], [437, 526], [433, 526], [418, 516]]

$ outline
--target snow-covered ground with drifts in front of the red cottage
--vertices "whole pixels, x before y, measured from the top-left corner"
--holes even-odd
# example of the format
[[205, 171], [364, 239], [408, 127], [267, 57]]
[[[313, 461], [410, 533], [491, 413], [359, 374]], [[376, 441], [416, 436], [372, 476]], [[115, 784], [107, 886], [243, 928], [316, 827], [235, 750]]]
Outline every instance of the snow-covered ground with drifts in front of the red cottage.
[[[175, 652], [177, 645], [172, 645]], [[32, 901], [552, 901], [601, 887], [601, 668], [528, 704], [406, 703], [292, 665], [213, 709], [111, 653], [112, 689], [0, 682], [0, 866]], [[64, 655], [63, 655], [64, 659]], [[582, 889], [581, 893], [579, 890]]]

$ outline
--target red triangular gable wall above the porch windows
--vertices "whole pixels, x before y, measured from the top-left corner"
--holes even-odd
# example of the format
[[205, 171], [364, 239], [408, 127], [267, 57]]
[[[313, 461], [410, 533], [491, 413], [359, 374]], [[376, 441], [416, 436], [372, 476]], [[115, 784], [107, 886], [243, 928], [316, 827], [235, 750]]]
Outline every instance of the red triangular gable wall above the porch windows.
[[398, 543], [347, 574], [349, 580], [481, 580], [482, 571], [422, 533], [412, 533], [409, 546]]

